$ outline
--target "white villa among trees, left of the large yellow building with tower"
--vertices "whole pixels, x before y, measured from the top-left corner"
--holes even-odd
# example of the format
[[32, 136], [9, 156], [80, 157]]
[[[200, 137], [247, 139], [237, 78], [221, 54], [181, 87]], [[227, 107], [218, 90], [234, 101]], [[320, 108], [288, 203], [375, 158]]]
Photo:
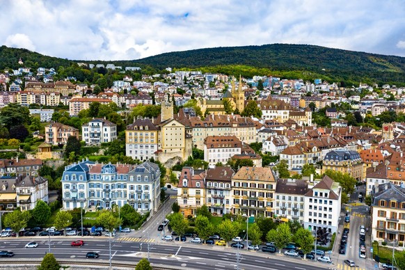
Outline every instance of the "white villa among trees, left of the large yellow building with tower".
[[117, 125], [109, 120], [94, 118], [81, 126], [81, 134], [86, 145], [109, 143], [117, 138]]

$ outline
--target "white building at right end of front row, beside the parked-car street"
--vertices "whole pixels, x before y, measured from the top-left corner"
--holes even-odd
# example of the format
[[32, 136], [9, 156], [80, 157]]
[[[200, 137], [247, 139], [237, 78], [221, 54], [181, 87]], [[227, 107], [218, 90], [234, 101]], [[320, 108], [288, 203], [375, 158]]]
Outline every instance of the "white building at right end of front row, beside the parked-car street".
[[304, 228], [315, 232], [319, 227], [327, 228], [333, 234], [339, 225], [342, 188], [327, 175], [308, 188], [304, 197]]

